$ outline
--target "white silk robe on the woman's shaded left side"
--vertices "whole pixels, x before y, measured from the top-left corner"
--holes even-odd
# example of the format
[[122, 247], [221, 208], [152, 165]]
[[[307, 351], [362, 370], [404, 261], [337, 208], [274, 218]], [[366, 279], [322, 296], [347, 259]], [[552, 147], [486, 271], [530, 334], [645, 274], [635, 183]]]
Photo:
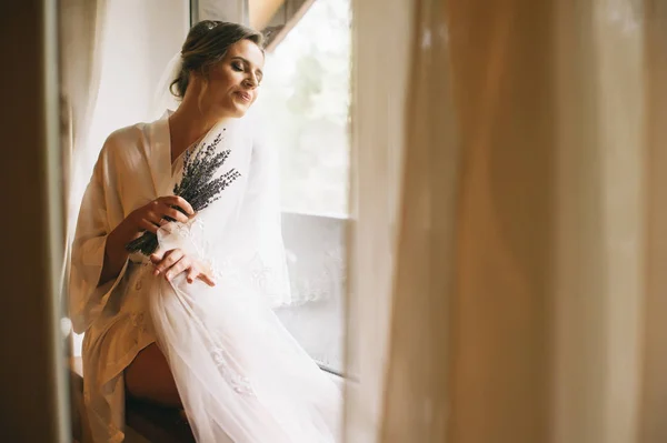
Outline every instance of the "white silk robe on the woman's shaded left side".
[[148, 259], [132, 254], [120, 274], [98, 288], [107, 235], [137, 208], [172, 194], [182, 170], [171, 164], [166, 118], [113, 132], [88, 184], [72, 245], [70, 315], [83, 340], [83, 397], [96, 442], [125, 437], [123, 370], [155, 342], [142, 284]]

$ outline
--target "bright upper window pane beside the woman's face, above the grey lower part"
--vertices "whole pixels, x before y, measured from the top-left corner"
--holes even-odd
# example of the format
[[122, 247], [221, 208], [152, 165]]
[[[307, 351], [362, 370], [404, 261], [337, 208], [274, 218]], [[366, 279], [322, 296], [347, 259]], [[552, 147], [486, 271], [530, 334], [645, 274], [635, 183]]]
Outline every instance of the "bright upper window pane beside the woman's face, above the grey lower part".
[[316, 0], [267, 54], [259, 104], [281, 152], [282, 205], [347, 214], [350, 2]]

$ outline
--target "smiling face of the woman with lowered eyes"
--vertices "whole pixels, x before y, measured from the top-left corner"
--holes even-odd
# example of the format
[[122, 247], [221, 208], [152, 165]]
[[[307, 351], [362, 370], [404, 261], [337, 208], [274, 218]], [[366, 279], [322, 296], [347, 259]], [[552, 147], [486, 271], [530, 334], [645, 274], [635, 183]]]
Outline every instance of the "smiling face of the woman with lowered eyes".
[[243, 117], [257, 99], [263, 52], [250, 40], [232, 44], [208, 74], [201, 104], [219, 117]]

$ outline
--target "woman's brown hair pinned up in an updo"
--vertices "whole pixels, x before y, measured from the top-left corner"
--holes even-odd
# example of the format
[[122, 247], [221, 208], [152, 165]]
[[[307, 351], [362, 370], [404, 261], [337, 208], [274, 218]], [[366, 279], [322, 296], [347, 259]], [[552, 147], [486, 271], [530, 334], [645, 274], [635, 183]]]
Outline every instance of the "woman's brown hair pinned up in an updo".
[[217, 20], [203, 20], [195, 24], [181, 49], [181, 70], [169, 85], [171, 93], [179, 99], [186, 97], [190, 73], [206, 77], [208, 69], [222, 60], [227, 50], [241, 40], [250, 40], [260, 49], [263, 46], [262, 34], [242, 24]]

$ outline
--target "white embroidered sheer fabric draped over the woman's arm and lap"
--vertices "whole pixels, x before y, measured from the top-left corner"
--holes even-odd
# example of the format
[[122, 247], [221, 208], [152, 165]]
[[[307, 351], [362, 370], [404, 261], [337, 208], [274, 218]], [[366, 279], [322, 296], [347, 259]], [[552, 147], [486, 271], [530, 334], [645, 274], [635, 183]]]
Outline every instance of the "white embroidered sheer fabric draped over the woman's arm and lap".
[[[158, 232], [216, 280], [147, 279], [156, 339], [167, 356], [198, 442], [332, 443], [341, 392], [276, 318], [290, 302], [270, 151], [247, 118], [216, 149], [240, 178], [186, 224]], [[213, 129], [209, 138], [221, 129]]]

